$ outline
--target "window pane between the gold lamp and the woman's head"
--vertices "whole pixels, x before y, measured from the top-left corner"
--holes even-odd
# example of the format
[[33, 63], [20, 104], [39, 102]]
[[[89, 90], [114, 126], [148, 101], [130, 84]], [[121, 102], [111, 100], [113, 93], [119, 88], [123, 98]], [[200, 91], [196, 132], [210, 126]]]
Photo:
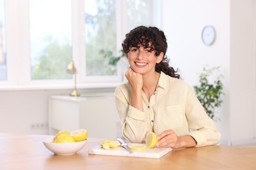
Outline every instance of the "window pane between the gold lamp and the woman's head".
[[100, 50], [116, 50], [116, 1], [85, 1], [86, 75], [113, 75]]

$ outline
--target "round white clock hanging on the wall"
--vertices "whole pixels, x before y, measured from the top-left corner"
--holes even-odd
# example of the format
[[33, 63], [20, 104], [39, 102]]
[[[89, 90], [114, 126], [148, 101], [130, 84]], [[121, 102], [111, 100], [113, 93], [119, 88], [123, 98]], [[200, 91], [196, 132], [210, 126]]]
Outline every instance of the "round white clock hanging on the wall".
[[210, 46], [216, 38], [216, 31], [212, 25], [206, 25], [202, 30], [202, 41], [205, 45]]

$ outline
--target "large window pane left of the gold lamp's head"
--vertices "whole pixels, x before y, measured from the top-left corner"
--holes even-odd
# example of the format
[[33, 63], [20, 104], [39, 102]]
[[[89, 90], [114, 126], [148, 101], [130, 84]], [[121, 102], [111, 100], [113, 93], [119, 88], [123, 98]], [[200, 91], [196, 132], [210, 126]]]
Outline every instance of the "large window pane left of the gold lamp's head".
[[72, 78], [66, 73], [72, 59], [71, 6], [70, 0], [30, 0], [32, 80]]

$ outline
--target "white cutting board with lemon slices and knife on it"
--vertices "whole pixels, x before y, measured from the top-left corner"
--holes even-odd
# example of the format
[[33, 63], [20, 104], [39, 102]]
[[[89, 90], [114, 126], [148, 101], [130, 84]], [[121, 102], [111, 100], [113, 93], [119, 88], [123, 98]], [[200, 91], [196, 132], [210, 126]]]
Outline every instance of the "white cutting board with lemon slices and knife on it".
[[[141, 143], [128, 143], [128, 146], [142, 145]], [[168, 152], [173, 150], [172, 148], [146, 148], [144, 150], [133, 150], [130, 154], [125, 150], [125, 148], [119, 146], [117, 148], [110, 148], [108, 150], [101, 148], [100, 145], [90, 148], [88, 150], [89, 154], [99, 154], [99, 155], [110, 155], [110, 156], [130, 156], [130, 157], [140, 157], [140, 158], [161, 158]]]

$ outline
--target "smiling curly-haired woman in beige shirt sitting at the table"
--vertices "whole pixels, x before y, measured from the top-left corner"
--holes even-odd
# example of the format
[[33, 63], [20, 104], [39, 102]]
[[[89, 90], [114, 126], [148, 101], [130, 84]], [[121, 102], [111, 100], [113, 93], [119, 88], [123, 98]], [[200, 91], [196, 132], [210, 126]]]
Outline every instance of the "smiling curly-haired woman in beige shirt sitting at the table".
[[219, 143], [221, 137], [188, 84], [169, 66], [167, 41], [157, 27], [139, 26], [127, 33], [123, 52], [130, 68], [128, 83], [116, 88], [123, 137], [143, 143], [158, 135], [158, 147], [192, 147]]

